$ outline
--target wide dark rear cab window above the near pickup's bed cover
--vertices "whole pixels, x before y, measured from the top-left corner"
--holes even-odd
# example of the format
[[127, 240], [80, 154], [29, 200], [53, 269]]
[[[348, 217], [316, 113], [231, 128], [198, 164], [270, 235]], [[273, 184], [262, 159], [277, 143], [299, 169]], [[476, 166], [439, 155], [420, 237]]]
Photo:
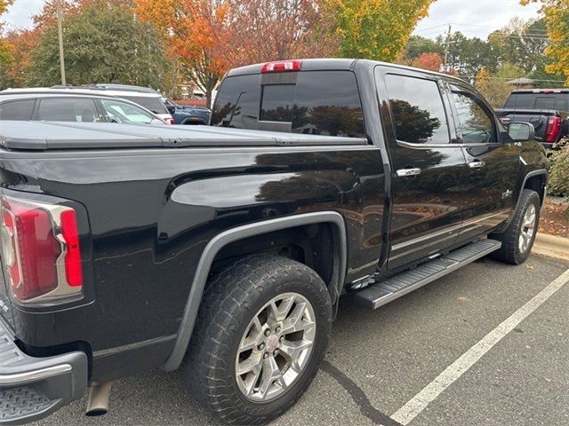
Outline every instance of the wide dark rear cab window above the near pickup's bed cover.
[[212, 125], [363, 138], [362, 105], [351, 71], [232, 75], [221, 84]]

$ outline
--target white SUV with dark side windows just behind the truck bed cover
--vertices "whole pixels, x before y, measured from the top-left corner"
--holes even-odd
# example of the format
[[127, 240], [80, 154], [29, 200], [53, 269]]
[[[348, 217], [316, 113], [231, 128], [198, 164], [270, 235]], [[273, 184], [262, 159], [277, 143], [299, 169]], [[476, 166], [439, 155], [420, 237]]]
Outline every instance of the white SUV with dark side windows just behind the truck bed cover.
[[165, 124], [126, 99], [53, 89], [0, 91], [0, 120]]

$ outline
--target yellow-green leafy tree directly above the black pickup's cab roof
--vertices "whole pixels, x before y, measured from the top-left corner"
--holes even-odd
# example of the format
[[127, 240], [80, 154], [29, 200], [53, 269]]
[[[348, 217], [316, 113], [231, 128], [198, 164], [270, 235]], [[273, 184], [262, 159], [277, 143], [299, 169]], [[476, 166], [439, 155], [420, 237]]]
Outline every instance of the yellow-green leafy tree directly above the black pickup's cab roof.
[[330, 0], [341, 55], [393, 61], [434, 0]]

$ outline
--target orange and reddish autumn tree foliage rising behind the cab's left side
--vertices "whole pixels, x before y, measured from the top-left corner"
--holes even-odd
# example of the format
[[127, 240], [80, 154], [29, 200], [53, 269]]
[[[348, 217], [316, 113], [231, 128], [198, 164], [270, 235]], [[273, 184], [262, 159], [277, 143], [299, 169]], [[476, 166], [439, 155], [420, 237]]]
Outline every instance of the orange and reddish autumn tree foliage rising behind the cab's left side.
[[212, 91], [229, 68], [271, 59], [330, 56], [337, 50], [323, 0], [134, 0], [159, 28], [188, 78]]

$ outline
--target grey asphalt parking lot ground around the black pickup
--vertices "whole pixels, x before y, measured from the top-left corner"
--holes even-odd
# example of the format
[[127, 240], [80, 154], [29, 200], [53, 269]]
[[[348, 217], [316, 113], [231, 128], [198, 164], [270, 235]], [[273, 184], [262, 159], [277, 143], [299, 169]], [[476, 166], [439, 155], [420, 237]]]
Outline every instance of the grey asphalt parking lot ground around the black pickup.
[[[556, 281], [568, 267], [481, 259], [377, 311], [344, 300], [317, 378], [273, 424], [397, 425], [419, 406], [408, 424], [568, 425], [569, 283]], [[116, 382], [106, 416], [84, 406], [37, 424], [219, 424], [162, 371]]]

